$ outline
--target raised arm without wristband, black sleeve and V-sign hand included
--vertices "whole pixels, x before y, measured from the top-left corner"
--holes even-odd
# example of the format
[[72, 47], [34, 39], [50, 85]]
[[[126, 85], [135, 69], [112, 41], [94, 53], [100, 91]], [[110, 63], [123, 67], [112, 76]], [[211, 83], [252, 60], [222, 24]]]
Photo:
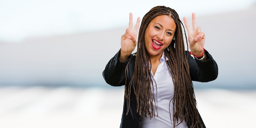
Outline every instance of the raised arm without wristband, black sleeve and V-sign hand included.
[[130, 13], [129, 27], [124, 35], [121, 36], [121, 49], [110, 59], [103, 71], [103, 78], [112, 86], [121, 86], [125, 84], [124, 71], [129, 60], [132, 58], [132, 52], [137, 45], [137, 31], [140, 18], [137, 18], [135, 28], [132, 29], [132, 13]]

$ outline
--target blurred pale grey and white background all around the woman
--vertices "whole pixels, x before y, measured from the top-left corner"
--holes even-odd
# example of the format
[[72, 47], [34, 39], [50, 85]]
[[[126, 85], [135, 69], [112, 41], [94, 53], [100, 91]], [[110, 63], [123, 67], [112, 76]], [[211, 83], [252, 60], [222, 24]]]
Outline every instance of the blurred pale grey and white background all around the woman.
[[256, 0], [1, 0], [0, 127], [118, 128], [124, 87], [102, 72], [134, 23], [165, 5], [196, 13], [219, 75], [194, 82], [207, 128], [256, 128]]

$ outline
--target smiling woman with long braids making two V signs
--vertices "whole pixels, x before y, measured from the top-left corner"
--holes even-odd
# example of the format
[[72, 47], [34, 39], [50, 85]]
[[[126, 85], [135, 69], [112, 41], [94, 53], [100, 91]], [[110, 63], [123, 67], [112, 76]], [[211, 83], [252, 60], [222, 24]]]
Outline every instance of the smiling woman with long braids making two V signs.
[[[108, 84], [125, 85], [120, 128], [205, 128], [192, 81], [215, 80], [218, 67], [204, 50], [205, 35], [196, 27], [195, 13], [192, 30], [184, 18], [195, 59], [184, 50], [183, 24], [175, 10], [165, 6], [150, 9], [142, 19], [137, 42], [139, 20], [132, 29], [130, 13], [121, 49], [103, 71]], [[136, 45], [137, 52], [132, 54]]]

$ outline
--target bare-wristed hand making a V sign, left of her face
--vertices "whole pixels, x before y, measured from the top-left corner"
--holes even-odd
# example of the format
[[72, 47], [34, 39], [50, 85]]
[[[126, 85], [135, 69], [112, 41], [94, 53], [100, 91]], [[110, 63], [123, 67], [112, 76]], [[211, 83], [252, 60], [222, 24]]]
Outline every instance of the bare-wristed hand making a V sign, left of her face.
[[126, 29], [125, 34], [121, 36], [121, 54], [119, 56], [121, 62], [127, 60], [128, 56], [132, 54], [132, 51], [137, 45], [136, 36], [139, 29], [139, 22], [140, 18], [138, 17], [136, 25], [134, 29], [132, 29], [132, 13], [130, 13], [129, 27]]

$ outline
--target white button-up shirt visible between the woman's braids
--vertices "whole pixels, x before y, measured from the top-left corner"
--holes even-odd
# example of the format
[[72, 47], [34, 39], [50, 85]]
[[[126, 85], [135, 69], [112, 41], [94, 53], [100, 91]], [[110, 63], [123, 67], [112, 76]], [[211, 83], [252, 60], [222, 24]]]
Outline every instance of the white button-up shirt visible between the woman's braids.
[[[166, 60], [168, 60], [168, 58], [166, 58]], [[158, 117], [156, 105], [155, 103], [153, 103], [153, 106], [156, 110], [155, 117], [150, 119], [149, 116], [147, 118], [141, 116], [140, 128], [173, 128], [173, 101], [171, 100], [173, 99], [174, 85], [171, 73], [169, 72], [168, 67], [166, 65], [166, 61], [164, 59], [164, 53], [160, 58], [160, 62], [161, 63], [158, 65], [155, 75], [153, 75], [153, 72], [151, 71], [153, 79], [155, 79], [155, 82], [153, 81], [154, 85], [151, 88], [152, 90], [154, 90], [154, 97], [156, 99], [158, 108]], [[171, 118], [169, 110], [171, 113]], [[187, 128], [186, 122], [183, 121], [175, 128]]]

